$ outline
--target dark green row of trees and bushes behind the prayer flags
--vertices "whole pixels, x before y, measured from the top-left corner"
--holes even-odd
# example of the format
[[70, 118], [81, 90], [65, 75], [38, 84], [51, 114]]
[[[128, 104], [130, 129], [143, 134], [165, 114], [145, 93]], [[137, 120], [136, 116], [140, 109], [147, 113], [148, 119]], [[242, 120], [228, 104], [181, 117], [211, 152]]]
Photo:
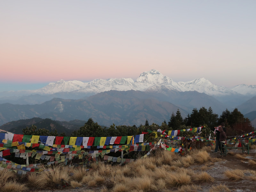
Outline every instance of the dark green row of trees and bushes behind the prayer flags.
[[[244, 118], [244, 115], [235, 108], [232, 112], [228, 109], [222, 112], [220, 117], [213, 113], [212, 108], [208, 109], [201, 107], [199, 110], [194, 108], [191, 114], [188, 114], [184, 119], [180, 114], [178, 109], [176, 113], [172, 112], [170, 120], [168, 123], [164, 120], [161, 125], [152, 123], [149, 124], [146, 119], [145, 124], [140, 124], [139, 127], [136, 125], [110, 125], [109, 128], [101, 127], [97, 122], [94, 122], [92, 118], [89, 118], [84, 126], [80, 127], [71, 133], [71, 137], [111, 137], [111, 136], [129, 136], [138, 135], [142, 132], [151, 132], [161, 129], [166, 130], [180, 130], [180, 129], [190, 129], [199, 126], [206, 126], [206, 131], [204, 131], [204, 136], [209, 137], [211, 130], [214, 130], [215, 126], [220, 125], [224, 122], [227, 129], [227, 136], [235, 136], [243, 133], [252, 132], [254, 128], [248, 118]], [[30, 128], [26, 127], [23, 129], [23, 134], [25, 135], [45, 135], [45, 136], [66, 136], [66, 133], [58, 134], [57, 130], [55, 132], [50, 132], [46, 129], [36, 129], [35, 125]], [[186, 133], [187, 134], [187, 133]]]

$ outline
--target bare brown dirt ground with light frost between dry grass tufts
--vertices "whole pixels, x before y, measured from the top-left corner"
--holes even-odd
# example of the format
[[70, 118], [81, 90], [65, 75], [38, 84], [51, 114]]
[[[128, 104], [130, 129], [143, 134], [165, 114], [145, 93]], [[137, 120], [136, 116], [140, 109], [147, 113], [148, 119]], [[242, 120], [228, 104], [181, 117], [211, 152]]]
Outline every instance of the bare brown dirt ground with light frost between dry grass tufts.
[[[209, 191], [209, 189], [213, 186], [213, 185], [219, 185], [219, 184], [225, 184], [226, 186], [228, 186], [228, 188], [232, 191], [232, 192], [251, 192], [251, 191], [256, 191], [256, 185], [255, 185], [255, 181], [251, 181], [249, 179], [247, 179], [246, 177], [243, 180], [238, 180], [238, 181], [233, 181], [233, 180], [228, 180], [228, 178], [225, 176], [224, 172], [227, 170], [233, 170], [233, 169], [240, 169], [240, 170], [246, 170], [246, 169], [251, 169], [256, 171], [256, 168], [252, 168], [248, 162], [237, 159], [234, 156], [235, 154], [241, 154], [244, 157], [248, 158], [248, 159], [253, 159], [256, 160], [256, 150], [250, 150], [250, 155], [244, 155], [242, 153], [242, 150], [240, 149], [232, 149], [229, 150], [229, 153], [227, 156], [220, 156], [218, 152], [216, 153], [212, 153], [209, 152], [210, 154], [210, 158], [214, 159], [217, 158], [217, 162], [211, 162], [211, 160], [205, 164], [194, 164], [189, 166], [188, 168], [192, 169], [195, 173], [196, 172], [202, 172], [205, 171], [208, 174], [210, 174], [213, 178], [214, 181], [212, 183], [202, 183], [200, 184], [202, 190], [199, 190], [201, 192], [207, 192]], [[216, 160], [216, 159], [215, 159]], [[204, 166], [204, 168], [203, 168]], [[249, 174], [249, 173], [248, 173]], [[246, 174], [245, 174], [246, 175]], [[246, 176], [250, 176], [250, 175], [246, 175]], [[199, 184], [196, 184], [199, 186]], [[84, 192], [87, 190], [92, 190], [92, 191], [100, 191], [102, 187], [98, 186], [98, 187], [88, 187], [87, 185], [84, 185], [83, 187], [74, 189], [71, 186], [62, 188], [62, 189], [52, 189], [52, 190], [30, 190], [31, 192]], [[176, 191], [178, 188], [177, 187], [173, 187], [168, 189], [167, 191]], [[109, 190], [111, 191], [111, 189]], [[166, 191], [165, 190], [158, 190], [160, 191]]]

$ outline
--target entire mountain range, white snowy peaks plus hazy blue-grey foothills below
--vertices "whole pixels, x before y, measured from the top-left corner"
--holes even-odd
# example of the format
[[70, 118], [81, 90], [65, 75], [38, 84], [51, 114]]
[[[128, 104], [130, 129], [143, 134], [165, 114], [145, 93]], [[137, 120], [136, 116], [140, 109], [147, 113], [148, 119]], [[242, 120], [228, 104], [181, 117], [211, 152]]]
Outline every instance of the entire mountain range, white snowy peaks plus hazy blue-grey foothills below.
[[176, 83], [152, 69], [140, 74], [136, 81], [131, 78], [95, 79], [89, 83], [60, 80], [37, 90], [0, 92], [0, 125], [32, 117], [65, 121], [93, 117], [106, 126], [139, 125], [146, 119], [161, 123], [178, 108], [185, 117], [193, 108], [202, 106], [212, 107], [217, 114], [226, 108], [238, 108], [246, 114], [256, 110], [255, 96], [256, 85], [226, 88], [205, 78]]

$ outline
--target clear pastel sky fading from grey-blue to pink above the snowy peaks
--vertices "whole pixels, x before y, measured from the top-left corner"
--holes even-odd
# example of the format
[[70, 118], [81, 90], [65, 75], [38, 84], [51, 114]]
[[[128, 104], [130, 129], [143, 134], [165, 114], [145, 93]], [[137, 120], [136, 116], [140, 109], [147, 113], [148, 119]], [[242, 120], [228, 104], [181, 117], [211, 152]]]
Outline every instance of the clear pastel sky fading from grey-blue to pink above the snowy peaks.
[[0, 91], [60, 79], [256, 84], [256, 1], [0, 1]]

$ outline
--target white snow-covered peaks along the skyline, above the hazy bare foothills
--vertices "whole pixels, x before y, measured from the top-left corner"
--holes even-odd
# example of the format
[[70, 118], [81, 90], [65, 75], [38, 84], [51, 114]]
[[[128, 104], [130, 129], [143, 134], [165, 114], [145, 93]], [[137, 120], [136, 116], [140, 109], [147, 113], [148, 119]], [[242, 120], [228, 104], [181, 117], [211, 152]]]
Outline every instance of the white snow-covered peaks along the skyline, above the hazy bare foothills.
[[[89, 83], [81, 81], [64, 81], [60, 80], [56, 83], [49, 83], [45, 87], [37, 90], [28, 90], [28, 94], [50, 95], [56, 93], [74, 93], [74, 94], [87, 94], [93, 95], [100, 92], [116, 90], [116, 91], [161, 91], [171, 90], [178, 92], [197, 91], [211, 96], [227, 96], [227, 95], [256, 95], [256, 85], [237, 85], [232, 89], [224, 86], [212, 84], [205, 78], [195, 79], [188, 82], [174, 82], [170, 77], [162, 75], [156, 69], [140, 74], [140, 77], [134, 82], [131, 78], [120, 79], [94, 79]], [[17, 93], [24, 93], [26, 91], [19, 91]], [[15, 92], [10, 94], [15, 95]]]

